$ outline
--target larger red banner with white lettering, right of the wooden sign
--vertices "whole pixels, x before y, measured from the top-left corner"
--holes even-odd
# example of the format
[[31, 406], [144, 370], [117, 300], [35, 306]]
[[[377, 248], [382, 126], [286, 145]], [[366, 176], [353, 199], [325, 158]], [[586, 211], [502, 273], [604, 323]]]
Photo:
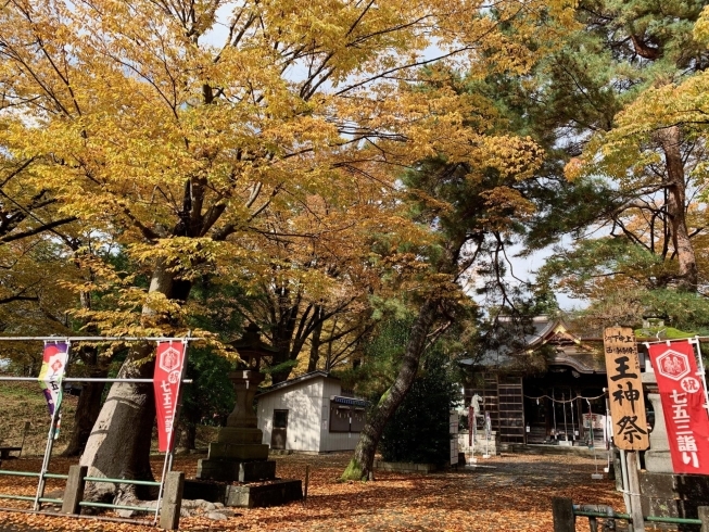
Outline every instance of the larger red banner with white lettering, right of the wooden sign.
[[675, 473], [709, 474], [709, 415], [688, 340], [650, 344]]

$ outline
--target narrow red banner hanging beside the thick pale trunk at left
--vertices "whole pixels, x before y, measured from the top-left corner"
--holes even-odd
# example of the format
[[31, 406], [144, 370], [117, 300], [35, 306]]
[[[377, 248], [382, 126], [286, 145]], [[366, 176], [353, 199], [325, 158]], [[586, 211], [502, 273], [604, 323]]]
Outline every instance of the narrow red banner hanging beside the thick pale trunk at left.
[[185, 344], [182, 342], [157, 342], [153, 388], [157, 416], [157, 443], [161, 453], [172, 449], [173, 421], [182, 380]]

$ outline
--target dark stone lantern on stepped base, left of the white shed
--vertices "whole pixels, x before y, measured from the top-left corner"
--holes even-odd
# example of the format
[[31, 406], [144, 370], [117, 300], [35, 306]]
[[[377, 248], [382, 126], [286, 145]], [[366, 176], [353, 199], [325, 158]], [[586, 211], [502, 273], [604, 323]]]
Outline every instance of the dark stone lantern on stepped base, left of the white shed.
[[203, 498], [226, 506], [276, 506], [303, 497], [300, 480], [276, 479], [276, 461], [268, 459], [268, 445], [262, 443], [257, 427], [254, 395], [264, 380], [261, 358], [274, 351], [261, 342], [258, 328], [250, 325], [241, 340], [232, 345], [243, 360], [229, 373], [237, 401], [210, 443], [205, 459], [198, 461], [197, 480], [186, 481], [185, 498]]

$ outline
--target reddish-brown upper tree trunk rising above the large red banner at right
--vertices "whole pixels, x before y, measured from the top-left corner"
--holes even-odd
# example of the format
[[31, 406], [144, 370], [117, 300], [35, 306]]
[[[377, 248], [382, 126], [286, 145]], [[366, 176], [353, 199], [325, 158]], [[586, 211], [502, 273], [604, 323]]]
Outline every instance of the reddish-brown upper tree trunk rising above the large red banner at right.
[[697, 291], [697, 258], [689, 239], [686, 220], [686, 185], [684, 163], [680, 151], [681, 130], [679, 126], [661, 129], [655, 134], [662, 151], [668, 173], [667, 214], [670, 221], [672, 245], [678, 254], [680, 266], [679, 288], [689, 292]]

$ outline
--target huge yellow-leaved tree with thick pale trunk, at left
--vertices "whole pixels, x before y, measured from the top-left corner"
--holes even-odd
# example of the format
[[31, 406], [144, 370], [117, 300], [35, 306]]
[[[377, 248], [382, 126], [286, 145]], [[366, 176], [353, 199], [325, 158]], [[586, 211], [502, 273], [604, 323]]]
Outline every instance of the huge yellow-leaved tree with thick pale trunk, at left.
[[[338, 203], [357, 181], [382, 180], [387, 193], [398, 168], [427, 156], [509, 151], [464, 127], [476, 102], [420, 67], [522, 72], [534, 56], [526, 39], [552, 40], [548, 21], [568, 8], [503, 0], [492, 16], [478, 0], [10, 0], [0, 145], [31, 161], [27, 186], [115, 236], [148, 273], [149, 289], [126, 289], [115, 319], [96, 317], [103, 331], [178, 333], [194, 277], [253, 262], [266, 214], [311, 195]], [[429, 90], [408, 90], [418, 83]], [[139, 364], [149, 354], [136, 350], [119, 377], [149, 376]], [[150, 478], [153, 419], [147, 387], [114, 384], [81, 458], [89, 474]]]

